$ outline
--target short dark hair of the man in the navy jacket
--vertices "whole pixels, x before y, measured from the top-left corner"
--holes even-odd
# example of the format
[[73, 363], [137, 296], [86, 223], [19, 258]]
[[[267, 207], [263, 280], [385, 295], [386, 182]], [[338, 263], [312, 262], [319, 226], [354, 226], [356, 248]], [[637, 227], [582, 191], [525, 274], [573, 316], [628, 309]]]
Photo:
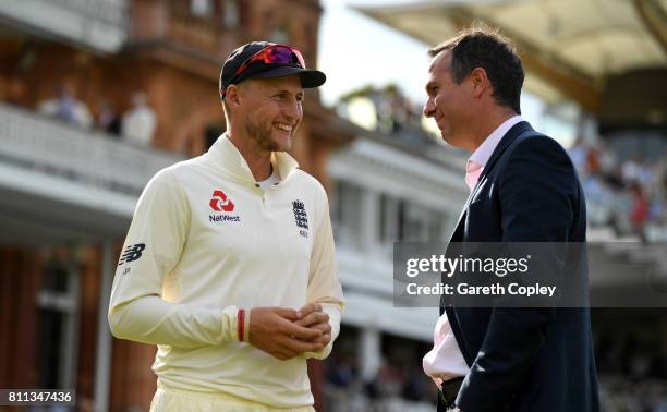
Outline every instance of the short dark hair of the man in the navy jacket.
[[496, 101], [521, 114], [523, 65], [508, 38], [497, 29], [476, 25], [429, 49], [428, 56], [436, 57], [444, 50], [451, 52], [451, 72], [457, 84], [474, 69], [482, 68], [492, 83]]

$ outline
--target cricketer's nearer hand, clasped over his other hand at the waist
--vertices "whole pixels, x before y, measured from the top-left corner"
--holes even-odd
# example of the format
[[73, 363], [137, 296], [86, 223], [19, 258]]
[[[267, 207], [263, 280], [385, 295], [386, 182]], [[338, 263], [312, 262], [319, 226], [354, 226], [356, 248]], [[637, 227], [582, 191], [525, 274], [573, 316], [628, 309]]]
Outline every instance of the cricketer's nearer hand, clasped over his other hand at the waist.
[[[251, 311], [250, 343], [281, 361], [324, 349], [324, 331], [299, 325], [296, 320], [299, 314], [294, 310], [255, 307]], [[330, 334], [331, 328], [327, 343], [331, 340]]]

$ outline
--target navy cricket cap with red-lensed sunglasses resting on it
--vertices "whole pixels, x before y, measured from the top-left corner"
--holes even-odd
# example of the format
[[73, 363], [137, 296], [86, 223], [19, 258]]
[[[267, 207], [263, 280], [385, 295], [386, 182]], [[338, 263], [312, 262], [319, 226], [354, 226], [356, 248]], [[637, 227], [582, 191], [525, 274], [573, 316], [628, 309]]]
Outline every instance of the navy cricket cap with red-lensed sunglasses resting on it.
[[291, 46], [269, 41], [252, 41], [232, 51], [220, 71], [220, 98], [227, 87], [248, 78], [274, 78], [299, 74], [303, 88], [322, 86], [327, 76], [305, 68], [303, 56]]

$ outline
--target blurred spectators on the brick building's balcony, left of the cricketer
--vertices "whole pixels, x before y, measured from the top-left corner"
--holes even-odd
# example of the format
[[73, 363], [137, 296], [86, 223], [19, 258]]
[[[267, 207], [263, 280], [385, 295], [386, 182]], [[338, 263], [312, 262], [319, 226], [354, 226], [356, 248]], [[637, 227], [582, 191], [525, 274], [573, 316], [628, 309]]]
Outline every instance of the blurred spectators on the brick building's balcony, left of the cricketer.
[[37, 111], [84, 129], [97, 129], [111, 137], [123, 138], [140, 146], [149, 146], [157, 126], [155, 111], [146, 95], [135, 92], [130, 96], [130, 108], [119, 113], [113, 104], [99, 99], [94, 111], [76, 97], [69, 85], [58, 86], [53, 96], [37, 105]]

